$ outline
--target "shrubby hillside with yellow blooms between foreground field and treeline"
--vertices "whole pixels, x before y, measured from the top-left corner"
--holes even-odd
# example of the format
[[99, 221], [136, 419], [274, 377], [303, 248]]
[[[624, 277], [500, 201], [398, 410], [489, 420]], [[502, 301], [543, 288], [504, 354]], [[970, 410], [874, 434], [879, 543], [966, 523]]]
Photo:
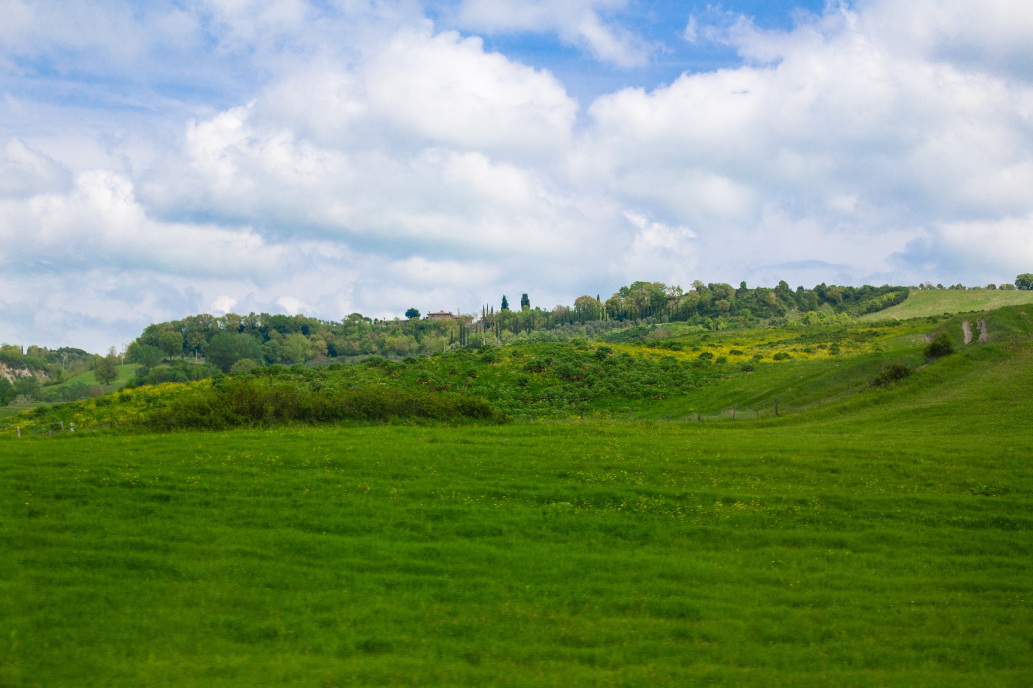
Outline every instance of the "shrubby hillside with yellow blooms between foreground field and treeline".
[[[965, 345], [963, 321], [990, 323], [990, 343]], [[894, 390], [952, 393], [1033, 343], [1018, 306], [875, 325], [697, 332], [635, 343], [525, 343], [392, 362], [271, 366], [215, 380], [142, 387], [40, 408], [26, 422], [224, 428], [414, 417], [524, 420], [670, 419], [766, 422], [818, 409], [855, 413]], [[922, 356], [943, 332], [958, 353]], [[1014, 343], [1014, 342], [1026, 342]], [[910, 376], [880, 387], [889, 365]], [[464, 398], [479, 399], [470, 405]], [[480, 405], [477, 405], [480, 404]], [[452, 413], [458, 416], [450, 416]]]

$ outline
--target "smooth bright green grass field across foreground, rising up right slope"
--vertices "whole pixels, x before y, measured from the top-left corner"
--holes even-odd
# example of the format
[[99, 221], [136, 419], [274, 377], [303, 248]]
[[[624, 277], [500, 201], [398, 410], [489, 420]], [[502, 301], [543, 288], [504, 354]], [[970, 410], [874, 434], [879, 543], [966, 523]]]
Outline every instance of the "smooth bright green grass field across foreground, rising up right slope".
[[688, 337], [802, 351], [634, 406], [734, 421], [5, 434], [0, 685], [1027, 686], [1023, 313], [877, 388], [957, 319]]

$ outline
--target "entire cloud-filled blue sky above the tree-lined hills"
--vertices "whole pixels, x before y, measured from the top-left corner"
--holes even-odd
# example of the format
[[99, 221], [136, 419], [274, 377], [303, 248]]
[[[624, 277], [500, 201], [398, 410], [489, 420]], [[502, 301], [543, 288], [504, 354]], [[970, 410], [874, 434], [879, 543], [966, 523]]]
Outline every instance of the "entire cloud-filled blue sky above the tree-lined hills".
[[1030, 44], [1019, 0], [11, 0], [0, 340], [1010, 281]]

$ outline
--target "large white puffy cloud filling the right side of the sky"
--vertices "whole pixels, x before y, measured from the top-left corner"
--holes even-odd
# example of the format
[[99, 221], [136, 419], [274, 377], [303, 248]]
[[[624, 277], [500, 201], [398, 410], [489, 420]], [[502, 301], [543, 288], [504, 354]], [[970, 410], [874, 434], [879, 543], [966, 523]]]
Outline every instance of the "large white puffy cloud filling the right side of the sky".
[[[720, 35], [751, 64], [597, 99], [580, 174], [689, 222], [712, 256], [723, 253], [718, 236], [763, 232], [774, 217], [794, 224], [782, 236], [797, 251], [822, 243], [801, 243], [800, 222], [833, 237], [846, 229], [834, 245], [853, 256], [854, 279], [889, 270], [890, 247], [944, 232], [951, 218], [1007, 235], [1012, 225], [998, 221], [1030, 207], [1033, 92], [934, 47], [896, 50], [888, 11], [834, 8], [788, 32], [738, 18]], [[851, 237], [880, 251], [853, 253]], [[953, 261], [941, 269], [964, 272]]]

